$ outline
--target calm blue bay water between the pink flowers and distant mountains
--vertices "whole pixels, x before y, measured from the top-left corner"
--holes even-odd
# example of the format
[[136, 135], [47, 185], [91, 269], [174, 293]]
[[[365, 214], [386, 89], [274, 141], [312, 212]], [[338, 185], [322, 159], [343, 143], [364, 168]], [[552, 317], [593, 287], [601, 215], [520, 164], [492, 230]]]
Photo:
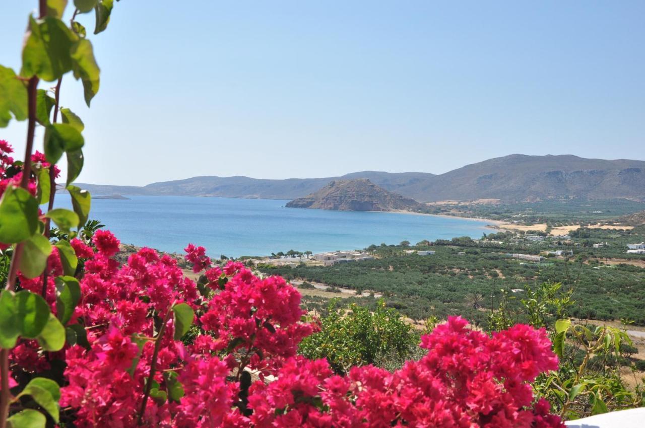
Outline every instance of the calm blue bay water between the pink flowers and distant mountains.
[[[486, 222], [429, 215], [284, 208], [286, 200], [174, 196], [94, 199], [101, 220], [126, 244], [181, 252], [189, 242], [211, 256], [360, 249], [370, 244], [481, 237]], [[65, 198], [63, 198], [65, 199]]]

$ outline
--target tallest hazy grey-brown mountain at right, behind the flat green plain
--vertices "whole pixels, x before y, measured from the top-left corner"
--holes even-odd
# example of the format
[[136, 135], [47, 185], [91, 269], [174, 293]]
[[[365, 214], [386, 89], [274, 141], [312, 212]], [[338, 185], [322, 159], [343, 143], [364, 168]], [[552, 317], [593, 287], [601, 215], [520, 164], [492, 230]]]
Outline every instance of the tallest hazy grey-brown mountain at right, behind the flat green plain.
[[645, 200], [645, 162], [573, 155], [509, 155], [466, 165], [400, 190], [424, 202], [501, 199]]

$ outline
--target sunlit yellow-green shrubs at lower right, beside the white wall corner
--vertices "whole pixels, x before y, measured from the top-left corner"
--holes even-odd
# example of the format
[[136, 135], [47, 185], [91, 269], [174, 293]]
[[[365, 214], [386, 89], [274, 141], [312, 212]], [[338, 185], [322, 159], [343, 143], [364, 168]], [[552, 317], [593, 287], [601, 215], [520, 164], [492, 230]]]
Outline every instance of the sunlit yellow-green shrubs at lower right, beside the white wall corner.
[[[561, 283], [528, 287], [517, 311], [508, 309], [505, 295], [496, 311], [490, 313], [492, 329], [504, 329], [513, 319], [524, 315], [535, 328], [545, 327], [547, 319], [557, 315], [550, 329], [553, 351], [560, 357], [557, 371], [542, 374], [533, 387], [550, 400], [553, 411], [566, 419], [577, 419], [608, 411], [645, 405], [645, 385], [631, 389], [624, 382], [621, 367], [631, 365], [626, 355], [635, 353], [624, 330], [610, 326], [585, 326], [568, 316], [572, 290]], [[626, 364], [625, 364], [626, 363]], [[634, 367], [637, 369], [637, 367]]]

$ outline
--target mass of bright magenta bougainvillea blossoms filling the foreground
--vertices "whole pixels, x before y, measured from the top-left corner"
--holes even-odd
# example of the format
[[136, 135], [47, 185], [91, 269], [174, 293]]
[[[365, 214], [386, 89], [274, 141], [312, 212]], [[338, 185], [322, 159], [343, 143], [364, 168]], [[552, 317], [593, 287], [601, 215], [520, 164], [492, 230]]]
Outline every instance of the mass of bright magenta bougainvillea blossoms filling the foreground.
[[[10, 368], [20, 378], [63, 364], [61, 418], [76, 427], [563, 426], [530, 385], [558, 367], [543, 329], [517, 325], [489, 336], [453, 317], [422, 336], [421, 360], [339, 376], [326, 360], [297, 355], [315, 326], [283, 278], [259, 278], [239, 262], [213, 266], [203, 248], [188, 246], [188, 260], [203, 272], [198, 286], [153, 249], [120, 266], [109, 231], [95, 233], [92, 246], [71, 244], [84, 273], [68, 327], [86, 341], [43, 355], [22, 340]], [[47, 269], [61, 275], [57, 253]], [[39, 281], [21, 277], [21, 286], [39, 290]], [[48, 289], [54, 296], [54, 284]], [[195, 314], [181, 338], [172, 316], [178, 304]]]

